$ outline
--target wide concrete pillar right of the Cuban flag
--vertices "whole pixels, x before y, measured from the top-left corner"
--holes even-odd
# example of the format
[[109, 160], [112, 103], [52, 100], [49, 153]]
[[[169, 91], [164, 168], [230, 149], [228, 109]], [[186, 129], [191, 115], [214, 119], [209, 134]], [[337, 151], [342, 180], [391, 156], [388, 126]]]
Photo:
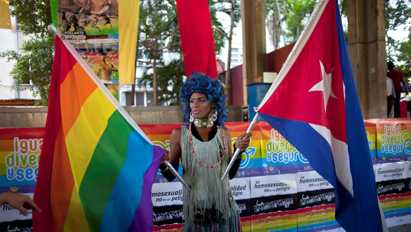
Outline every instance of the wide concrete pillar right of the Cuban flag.
[[364, 118], [387, 117], [384, 0], [347, 0], [348, 51]]

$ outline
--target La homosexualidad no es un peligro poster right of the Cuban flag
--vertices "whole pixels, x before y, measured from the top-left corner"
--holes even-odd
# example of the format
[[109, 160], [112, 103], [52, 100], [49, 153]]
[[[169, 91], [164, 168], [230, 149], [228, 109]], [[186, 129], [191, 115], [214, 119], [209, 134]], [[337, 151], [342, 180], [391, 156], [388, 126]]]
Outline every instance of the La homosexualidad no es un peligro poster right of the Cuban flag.
[[375, 165], [377, 194], [388, 227], [411, 223], [411, 195], [406, 162]]

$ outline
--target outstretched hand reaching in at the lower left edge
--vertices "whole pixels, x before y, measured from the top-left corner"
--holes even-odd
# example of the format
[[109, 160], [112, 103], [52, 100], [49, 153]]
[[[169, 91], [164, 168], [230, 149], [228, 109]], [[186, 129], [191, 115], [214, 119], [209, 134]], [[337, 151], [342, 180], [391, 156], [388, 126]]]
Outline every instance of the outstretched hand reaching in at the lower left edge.
[[24, 216], [28, 216], [28, 209], [32, 209], [37, 213], [42, 211], [28, 195], [19, 193], [0, 194], [0, 206], [4, 204], [8, 204], [12, 208], [18, 209]]

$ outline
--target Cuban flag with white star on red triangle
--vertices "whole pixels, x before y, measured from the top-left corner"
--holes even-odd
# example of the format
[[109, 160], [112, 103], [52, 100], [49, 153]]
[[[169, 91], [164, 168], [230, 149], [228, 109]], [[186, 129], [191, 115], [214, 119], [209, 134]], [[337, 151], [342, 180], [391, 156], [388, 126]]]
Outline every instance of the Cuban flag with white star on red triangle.
[[256, 111], [335, 187], [344, 230], [388, 231], [337, 0], [316, 6]]

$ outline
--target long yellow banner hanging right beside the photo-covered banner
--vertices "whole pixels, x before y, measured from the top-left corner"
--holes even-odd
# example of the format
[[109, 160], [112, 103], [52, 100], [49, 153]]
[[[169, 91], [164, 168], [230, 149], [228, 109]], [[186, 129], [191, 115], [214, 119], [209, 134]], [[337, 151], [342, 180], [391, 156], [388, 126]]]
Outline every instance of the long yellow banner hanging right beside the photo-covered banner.
[[118, 74], [120, 85], [133, 84], [136, 76], [137, 33], [139, 31], [140, 0], [118, 1]]

